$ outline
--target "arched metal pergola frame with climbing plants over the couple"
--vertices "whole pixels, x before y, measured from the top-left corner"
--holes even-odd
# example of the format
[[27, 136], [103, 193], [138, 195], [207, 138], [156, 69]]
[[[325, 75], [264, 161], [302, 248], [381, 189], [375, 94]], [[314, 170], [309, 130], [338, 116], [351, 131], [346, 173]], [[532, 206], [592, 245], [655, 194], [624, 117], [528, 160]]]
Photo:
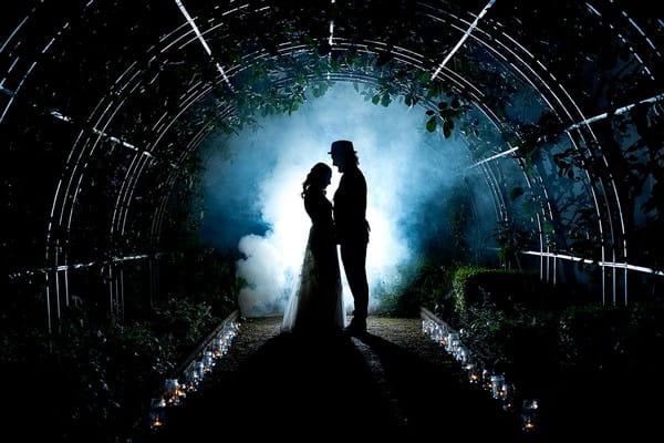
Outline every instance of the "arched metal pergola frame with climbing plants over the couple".
[[[456, 96], [480, 116], [481, 130], [501, 144], [483, 146], [481, 136], [468, 136], [476, 162], [465, 173], [481, 174], [497, 222], [510, 223], [519, 215], [505, 177], [518, 172], [537, 208], [526, 222], [535, 241], [521, 253], [539, 258], [543, 280], [556, 282], [562, 262], [596, 264], [602, 301], [626, 305], [632, 272], [662, 274], [641, 260], [656, 258], [657, 250], [635, 262], [627, 255], [634, 219], [643, 214], [633, 205], [625, 209], [634, 197], [618, 176], [626, 145], [606, 136], [606, 126], [636, 111], [652, 126], [662, 120], [656, 78], [664, 25], [644, 11], [632, 17], [633, 6], [564, 4], [560, 17], [547, 17], [552, 11], [544, 7], [500, 0], [54, 3], [8, 16], [14, 21], [0, 42], [0, 124], [8, 128], [9, 161], [33, 161], [14, 154], [24, 144], [43, 154], [33, 167], [39, 188], [15, 195], [39, 197], [25, 234], [31, 249], [17, 253], [19, 240], [6, 246], [9, 258], [21, 256], [10, 264], [10, 277], [44, 276], [49, 329], [71, 302], [70, 272], [81, 269], [98, 270], [111, 310], [122, 318], [123, 269], [137, 260], [156, 268], [170, 192], [206, 137], [219, 127], [241, 130], [261, 101], [290, 112], [307, 87], [339, 81], [364, 84], [378, 99], [401, 97], [423, 112]], [[569, 28], [536, 41], [539, 28], [549, 29], [544, 19]], [[578, 55], [563, 47], [574, 41], [564, 34], [570, 29], [579, 32]], [[584, 39], [603, 38], [609, 40], [600, 55], [583, 52]], [[110, 48], [102, 50], [104, 42]], [[574, 64], [584, 58], [587, 64]], [[571, 71], [561, 68], [564, 62]], [[609, 86], [598, 86], [592, 97], [583, 90], [601, 83]], [[385, 84], [393, 89], [380, 91]], [[536, 101], [537, 115], [516, 116], [517, 92]], [[640, 133], [636, 116], [625, 124], [625, 134]], [[568, 147], [567, 157], [557, 157]], [[575, 159], [568, 169], [574, 181], [554, 178], [560, 158]], [[641, 151], [632, 162], [647, 161]], [[581, 230], [594, 241], [589, 255], [574, 253], [567, 238], [566, 206], [572, 203], [552, 194], [564, 187], [584, 195], [589, 215]], [[8, 208], [9, 217], [19, 218]]]

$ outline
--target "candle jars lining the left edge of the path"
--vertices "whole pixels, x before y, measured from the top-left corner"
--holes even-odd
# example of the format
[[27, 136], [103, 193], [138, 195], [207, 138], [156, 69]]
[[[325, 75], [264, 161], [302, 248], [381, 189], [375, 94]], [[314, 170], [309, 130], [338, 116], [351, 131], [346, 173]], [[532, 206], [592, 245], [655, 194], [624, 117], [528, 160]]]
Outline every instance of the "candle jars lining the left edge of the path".
[[203, 379], [212, 371], [218, 360], [228, 353], [232, 339], [237, 336], [240, 323], [227, 321], [204, 348], [203, 352], [194, 359], [179, 378], [166, 379], [158, 396], [153, 398], [149, 409], [149, 426], [157, 430], [164, 425], [167, 406], [180, 404], [187, 393], [198, 390]]

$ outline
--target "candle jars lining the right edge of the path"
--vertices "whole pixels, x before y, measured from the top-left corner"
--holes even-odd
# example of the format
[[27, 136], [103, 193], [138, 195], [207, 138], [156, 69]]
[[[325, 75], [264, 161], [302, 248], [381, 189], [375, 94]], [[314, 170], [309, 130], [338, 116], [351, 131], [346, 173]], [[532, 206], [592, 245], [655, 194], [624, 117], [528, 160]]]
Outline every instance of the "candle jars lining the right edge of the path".
[[[516, 399], [516, 387], [508, 383], [502, 373], [492, 373], [484, 369], [470, 350], [461, 343], [459, 332], [430, 319], [422, 321], [422, 331], [432, 340], [445, 348], [468, 375], [471, 384], [479, 385], [491, 393], [491, 396], [501, 402], [506, 411], [513, 411]], [[521, 429], [525, 432], [535, 432], [538, 429], [538, 402], [536, 399], [522, 399], [521, 402]]]

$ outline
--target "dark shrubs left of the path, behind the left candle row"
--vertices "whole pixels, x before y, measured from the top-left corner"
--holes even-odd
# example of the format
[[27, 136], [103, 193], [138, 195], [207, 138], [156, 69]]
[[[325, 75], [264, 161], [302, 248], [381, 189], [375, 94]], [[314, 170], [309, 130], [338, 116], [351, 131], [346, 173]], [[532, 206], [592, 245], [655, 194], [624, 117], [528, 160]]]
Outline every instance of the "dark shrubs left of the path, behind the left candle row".
[[[170, 214], [165, 245], [178, 253], [155, 261], [158, 285], [168, 288], [167, 295], [147, 297], [147, 270], [138, 260], [124, 266], [127, 316], [122, 322], [110, 317], [104, 285], [89, 286], [87, 292], [77, 287], [51, 336], [43, 330], [43, 299], [28, 290], [12, 299], [14, 316], [2, 312], [0, 361], [17, 381], [9, 393], [17, 420], [33, 416], [40, 404], [44, 425], [63, 442], [128, 437], [164, 377], [236, 309], [241, 282], [235, 277], [235, 258], [196, 241], [197, 182], [181, 181], [174, 198], [181, 210]], [[93, 269], [85, 276], [94, 279]], [[20, 282], [12, 286], [17, 296]], [[27, 306], [31, 300], [34, 306]]]

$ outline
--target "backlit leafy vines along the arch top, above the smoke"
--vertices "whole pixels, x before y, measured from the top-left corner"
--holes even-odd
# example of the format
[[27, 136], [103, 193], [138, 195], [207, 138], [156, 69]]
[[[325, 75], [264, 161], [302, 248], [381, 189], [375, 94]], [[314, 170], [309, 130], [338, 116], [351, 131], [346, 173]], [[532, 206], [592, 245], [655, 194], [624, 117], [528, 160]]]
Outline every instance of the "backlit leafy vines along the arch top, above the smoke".
[[[267, 82], [276, 70], [287, 81], [279, 84]], [[428, 132], [435, 132], [439, 127], [445, 138], [449, 138], [455, 126], [469, 131], [470, 123], [464, 121], [470, 110], [469, 102], [446, 83], [433, 81], [429, 73], [397, 60], [382, 60], [381, 54], [353, 51], [335, 58], [319, 56], [317, 53], [281, 55], [279, 64], [273, 60], [257, 62], [251, 66], [251, 75], [242, 78], [242, 91], [225, 99], [232, 101], [236, 109], [234, 116], [211, 124], [225, 125], [226, 132], [238, 132], [246, 125], [255, 124], [253, 115], [257, 114], [290, 115], [308, 100], [309, 91], [313, 97], [319, 97], [330, 89], [333, 81], [325, 80], [325, 72], [341, 71], [375, 79], [373, 82], [362, 83], [362, 87], [359, 82], [353, 83], [355, 91], [375, 105], [388, 106], [403, 102], [406, 106], [430, 107], [437, 101], [435, 109], [425, 111]], [[455, 123], [459, 121], [460, 124]]]

